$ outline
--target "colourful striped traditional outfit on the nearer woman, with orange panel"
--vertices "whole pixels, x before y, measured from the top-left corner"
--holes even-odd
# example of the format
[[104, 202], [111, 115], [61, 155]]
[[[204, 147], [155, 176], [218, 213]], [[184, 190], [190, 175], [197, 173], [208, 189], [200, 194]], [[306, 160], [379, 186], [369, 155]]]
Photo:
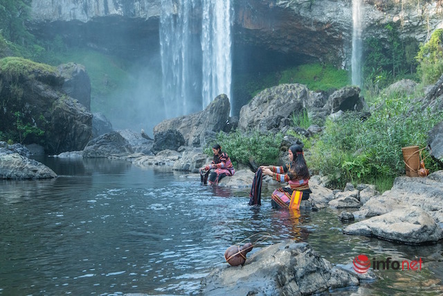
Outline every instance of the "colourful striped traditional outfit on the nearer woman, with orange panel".
[[300, 202], [309, 198], [309, 178], [298, 177], [296, 171], [291, 168], [291, 164], [284, 166], [269, 166], [272, 171], [272, 179], [278, 182], [288, 182], [288, 185], [275, 189], [272, 193], [273, 207], [285, 209], [299, 209]]

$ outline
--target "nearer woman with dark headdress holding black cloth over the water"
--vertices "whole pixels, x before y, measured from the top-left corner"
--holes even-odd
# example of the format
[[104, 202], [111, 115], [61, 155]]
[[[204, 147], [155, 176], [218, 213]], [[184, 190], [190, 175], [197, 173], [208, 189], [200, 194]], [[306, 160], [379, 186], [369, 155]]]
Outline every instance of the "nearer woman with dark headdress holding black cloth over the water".
[[288, 182], [283, 188], [276, 189], [271, 195], [274, 208], [299, 209], [301, 200], [307, 200], [309, 193], [309, 171], [303, 150], [299, 145], [289, 147], [289, 164], [284, 166], [260, 166], [264, 175], [278, 182]]

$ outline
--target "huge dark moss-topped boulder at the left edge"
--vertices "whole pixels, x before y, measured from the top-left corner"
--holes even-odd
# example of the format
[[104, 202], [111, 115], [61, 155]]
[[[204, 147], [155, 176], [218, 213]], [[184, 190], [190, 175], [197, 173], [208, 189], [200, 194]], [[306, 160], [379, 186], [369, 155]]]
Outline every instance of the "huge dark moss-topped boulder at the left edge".
[[[24, 144], [43, 142], [48, 154], [86, 146], [92, 114], [64, 92], [60, 71], [23, 58], [5, 58], [0, 64], [0, 81], [1, 131]], [[31, 131], [26, 137], [17, 122], [21, 129]]]

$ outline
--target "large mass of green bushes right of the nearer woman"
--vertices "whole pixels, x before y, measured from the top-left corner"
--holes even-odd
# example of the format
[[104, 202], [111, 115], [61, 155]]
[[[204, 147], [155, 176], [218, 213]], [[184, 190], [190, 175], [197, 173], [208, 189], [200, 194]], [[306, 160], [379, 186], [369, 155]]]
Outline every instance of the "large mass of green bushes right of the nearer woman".
[[[309, 165], [327, 175], [333, 187], [346, 182], [372, 183], [383, 191], [404, 175], [401, 147], [426, 146], [428, 130], [443, 120], [443, 111], [431, 114], [404, 94], [381, 95], [372, 105], [366, 121], [348, 113], [336, 121], [327, 120], [325, 133], [310, 150]], [[431, 157], [426, 168], [436, 169]]]

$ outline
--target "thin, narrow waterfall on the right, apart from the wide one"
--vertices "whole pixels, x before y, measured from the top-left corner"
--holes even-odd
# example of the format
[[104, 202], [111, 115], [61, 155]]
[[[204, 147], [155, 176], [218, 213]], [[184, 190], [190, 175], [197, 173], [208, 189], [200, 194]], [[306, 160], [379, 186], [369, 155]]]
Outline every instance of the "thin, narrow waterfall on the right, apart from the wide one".
[[361, 16], [361, 0], [352, 0], [352, 84], [359, 87], [361, 87], [362, 84], [361, 57], [363, 54]]

